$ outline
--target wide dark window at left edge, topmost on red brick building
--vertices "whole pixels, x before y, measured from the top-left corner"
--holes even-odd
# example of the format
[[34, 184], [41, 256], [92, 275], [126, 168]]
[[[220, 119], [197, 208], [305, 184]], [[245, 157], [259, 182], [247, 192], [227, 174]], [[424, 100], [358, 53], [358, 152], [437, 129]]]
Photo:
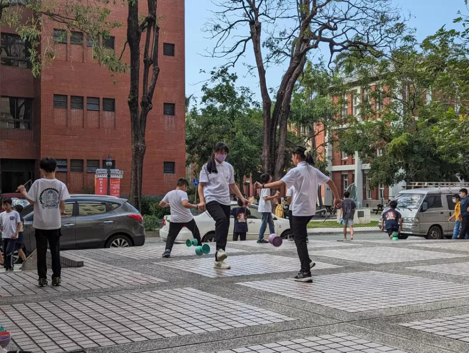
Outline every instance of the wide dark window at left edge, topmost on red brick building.
[[1, 64], [5, 66], [31, 68], [29, 49], [31, 44], [24, 42], [16, 34], [2, 33], [0, 41]]

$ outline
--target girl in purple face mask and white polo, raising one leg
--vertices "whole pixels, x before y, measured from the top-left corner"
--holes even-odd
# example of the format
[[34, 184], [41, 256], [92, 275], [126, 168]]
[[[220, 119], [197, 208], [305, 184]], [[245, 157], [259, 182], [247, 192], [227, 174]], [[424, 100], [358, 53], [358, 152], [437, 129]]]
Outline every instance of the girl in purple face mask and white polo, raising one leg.
[[212, 155], [202, 166], [199, 177], [198, 193], [200, 197], [199, 208], [206, 208], [215, 220], [216, 251], [215, 269], [230, 269], [224, 260], [228, 228], [230, 227], [231, 199], [230, 191], [241, 200], [244, 207], [249, 205], [235, 184], [233, 166], [225, 162], [228, 155], [228, 146], [224, 142], [217, 142]]

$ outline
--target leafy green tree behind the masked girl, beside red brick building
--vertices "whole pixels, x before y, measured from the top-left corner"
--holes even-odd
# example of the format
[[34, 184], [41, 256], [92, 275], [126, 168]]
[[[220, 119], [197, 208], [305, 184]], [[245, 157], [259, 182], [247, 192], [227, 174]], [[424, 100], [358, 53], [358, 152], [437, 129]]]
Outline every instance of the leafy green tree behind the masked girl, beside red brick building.
[[211, 72], [210, 83], [202, 86], [204, 104], [186, 119], [187, 164], [194, 164], [197, 174], [212, 154], [213, 146], [224, 141], [230, 147], [228, 161], [235, 169], [236, 182], [258, 172], [261, 164], [262, 116], [252, 92], [236, 87], [237, 76], [227, 68]]

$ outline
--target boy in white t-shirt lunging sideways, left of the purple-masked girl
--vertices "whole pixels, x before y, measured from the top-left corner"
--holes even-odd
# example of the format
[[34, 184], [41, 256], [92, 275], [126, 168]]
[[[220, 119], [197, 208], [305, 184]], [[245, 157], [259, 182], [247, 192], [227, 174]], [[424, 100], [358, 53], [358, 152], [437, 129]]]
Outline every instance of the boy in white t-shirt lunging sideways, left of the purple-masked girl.
[[170, 231], [168, 238], [166, 238], [166, 250], [163, 253], [163, 257], [171, 257], [172, 246], [183, 227], [188, 228], [192, 232], [192, 236], [194, 239], [197, 239], [199, 245], [202, 244], [199, 228], [197, 228], [194, 217], [189, 210], [190, 208], [198, 209], [198, 205], [192, 205], [189, 202], [189, 197], [187, 196], [188, 187], [189, 182], [184, 178], [179, 178], [176, 189], [168, 192], [163, 197], [163, 200], [160, 201], [160, 207], [171, 208]]

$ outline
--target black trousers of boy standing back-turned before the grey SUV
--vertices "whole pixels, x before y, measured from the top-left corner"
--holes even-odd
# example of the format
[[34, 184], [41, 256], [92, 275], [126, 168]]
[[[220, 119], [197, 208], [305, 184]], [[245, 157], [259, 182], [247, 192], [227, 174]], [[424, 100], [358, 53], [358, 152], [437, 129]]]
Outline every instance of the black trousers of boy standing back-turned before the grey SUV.
[[60, 264], [60, 236], [62, 235], [60, 228], [35, 230], [39, 278], [47, 278], [47, 242], [52, 258], [52, 278], [60, 277], [62, 269]]

